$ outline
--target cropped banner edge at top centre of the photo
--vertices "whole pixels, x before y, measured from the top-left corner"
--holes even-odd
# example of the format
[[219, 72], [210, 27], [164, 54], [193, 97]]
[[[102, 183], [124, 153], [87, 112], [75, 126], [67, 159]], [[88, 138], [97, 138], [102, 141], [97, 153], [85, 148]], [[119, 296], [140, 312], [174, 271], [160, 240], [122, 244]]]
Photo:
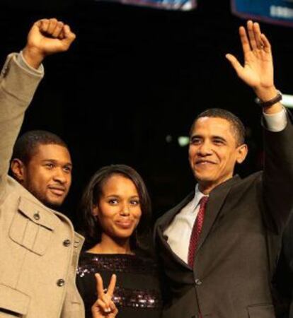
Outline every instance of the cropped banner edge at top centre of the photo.
[[[100, 0], [96, 0], [100, 1]], [[103, 0], [102, 0], [103, 1]], [[197, 0], [105, 0], [132, 4], [134, 6], [148, 6], [166, 10], [190, 11], [197, 6]]]

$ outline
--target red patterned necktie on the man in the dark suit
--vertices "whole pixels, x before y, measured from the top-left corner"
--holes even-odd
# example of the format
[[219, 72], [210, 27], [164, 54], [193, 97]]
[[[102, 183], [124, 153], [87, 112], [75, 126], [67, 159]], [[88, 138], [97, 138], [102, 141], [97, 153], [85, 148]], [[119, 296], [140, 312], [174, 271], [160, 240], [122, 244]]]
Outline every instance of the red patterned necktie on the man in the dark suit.
[[191, 232], [190, 242], [188, 247], [188, 265], [193, 268], [193, 261], [195, 259], [195, 249], [200, 240], [200, 232], [202, 232], [202, 225], [205, 218], [205, 206], [207, 206], [208, 196], [202, 196], [200, 199], [200, 211], [198, 211], [195, 224], [193, 225], [193, 232]]

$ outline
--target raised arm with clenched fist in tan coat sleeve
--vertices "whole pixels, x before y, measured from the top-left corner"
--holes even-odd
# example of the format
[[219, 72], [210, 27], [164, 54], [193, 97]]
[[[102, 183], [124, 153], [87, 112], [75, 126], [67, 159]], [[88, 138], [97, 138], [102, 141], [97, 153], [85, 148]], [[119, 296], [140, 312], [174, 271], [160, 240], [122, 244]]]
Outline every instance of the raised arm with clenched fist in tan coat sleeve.
[[54, 18], [42, 19], [30, 29], [23, 51], [6, 59], [0, 76], [0, 198], [24, 112], [43, 76], [42, 60], [67, 51], [74, 39], [68, 25]]

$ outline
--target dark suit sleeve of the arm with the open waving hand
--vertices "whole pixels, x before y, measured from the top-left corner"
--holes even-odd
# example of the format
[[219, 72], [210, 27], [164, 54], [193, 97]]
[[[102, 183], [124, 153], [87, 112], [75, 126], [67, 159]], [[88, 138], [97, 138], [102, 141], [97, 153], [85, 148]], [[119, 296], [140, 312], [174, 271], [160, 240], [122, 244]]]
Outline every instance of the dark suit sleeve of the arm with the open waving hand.
[[293, 211], [293, 126], [287, 113], [287, 125], [282, 131], [264, 129], [265, 158], [263, 172], [263, 202], [277, 232], [285, 227]]

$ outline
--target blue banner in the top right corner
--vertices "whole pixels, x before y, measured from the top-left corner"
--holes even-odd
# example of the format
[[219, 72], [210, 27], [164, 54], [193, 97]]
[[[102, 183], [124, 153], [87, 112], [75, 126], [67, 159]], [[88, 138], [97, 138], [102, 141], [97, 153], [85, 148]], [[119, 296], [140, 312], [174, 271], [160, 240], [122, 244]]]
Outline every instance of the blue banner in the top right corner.
[[241, 18], [293, 26], [293, 0], [231, 0], [231, 7]]

